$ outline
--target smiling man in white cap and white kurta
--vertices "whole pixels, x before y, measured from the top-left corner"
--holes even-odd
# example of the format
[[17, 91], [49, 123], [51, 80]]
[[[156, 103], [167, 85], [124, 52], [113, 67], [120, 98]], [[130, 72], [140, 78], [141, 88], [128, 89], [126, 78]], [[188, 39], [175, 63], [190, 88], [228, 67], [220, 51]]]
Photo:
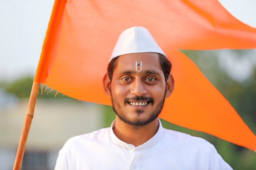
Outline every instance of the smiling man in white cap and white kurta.
[[173, 92], [170, 71], [148, 30], [121, 33], [103, 78], [116, 119], [69, 139], [55, 170], [232, 170], [209, 142], [162, 127], [157, 117]]

